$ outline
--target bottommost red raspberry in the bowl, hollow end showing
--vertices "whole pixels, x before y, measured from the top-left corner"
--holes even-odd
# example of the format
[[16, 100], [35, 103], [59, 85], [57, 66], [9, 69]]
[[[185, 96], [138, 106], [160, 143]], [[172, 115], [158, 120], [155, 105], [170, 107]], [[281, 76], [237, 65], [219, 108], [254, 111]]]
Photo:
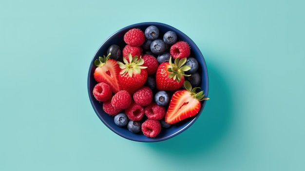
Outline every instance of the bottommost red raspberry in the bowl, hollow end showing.
[[145, 136], [155, 137], [161, 132], [161, 124], [158, 120], [147, 119], [142, 123], [141, 129]]

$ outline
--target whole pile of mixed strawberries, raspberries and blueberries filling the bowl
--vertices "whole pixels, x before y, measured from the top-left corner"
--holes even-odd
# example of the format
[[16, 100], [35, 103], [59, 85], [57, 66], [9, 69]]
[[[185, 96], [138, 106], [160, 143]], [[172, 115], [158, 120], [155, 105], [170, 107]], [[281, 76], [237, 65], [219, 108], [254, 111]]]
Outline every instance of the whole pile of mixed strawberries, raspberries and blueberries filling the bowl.
[[154, 25], [130, 29], [122, 41], [124, 47], [113, 44], [95, 60], [92, 92], [117, 126], [155, 137], [199, 112], [209, 98], [197, 93], [200, 66], [186, 41]]

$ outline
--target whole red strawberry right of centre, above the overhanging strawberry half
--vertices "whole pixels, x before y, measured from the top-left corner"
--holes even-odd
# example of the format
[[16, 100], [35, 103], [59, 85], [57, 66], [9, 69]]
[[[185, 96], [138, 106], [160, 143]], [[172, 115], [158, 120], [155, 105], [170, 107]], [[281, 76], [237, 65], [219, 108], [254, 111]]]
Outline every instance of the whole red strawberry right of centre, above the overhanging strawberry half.
[[159, 65], [156, 72], [156, 87], [158, 90], [175, 91], [180, 89], [184, 83], [184, 72], [191, 69], [190, 66], [184, 65], [187, 58], [175, 59], [172, 63], [172, 57], [169, 62], [163, 62]]

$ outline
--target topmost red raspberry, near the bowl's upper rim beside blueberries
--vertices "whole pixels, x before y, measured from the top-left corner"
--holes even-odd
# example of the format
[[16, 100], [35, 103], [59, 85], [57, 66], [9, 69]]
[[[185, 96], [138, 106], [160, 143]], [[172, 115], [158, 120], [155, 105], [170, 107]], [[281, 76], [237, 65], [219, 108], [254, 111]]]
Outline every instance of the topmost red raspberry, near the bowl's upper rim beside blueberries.
[[145, 42], [145, 35], [140, 29], [130, 29], [124, 35], [125, 43], [131, 46], [141, 46]]

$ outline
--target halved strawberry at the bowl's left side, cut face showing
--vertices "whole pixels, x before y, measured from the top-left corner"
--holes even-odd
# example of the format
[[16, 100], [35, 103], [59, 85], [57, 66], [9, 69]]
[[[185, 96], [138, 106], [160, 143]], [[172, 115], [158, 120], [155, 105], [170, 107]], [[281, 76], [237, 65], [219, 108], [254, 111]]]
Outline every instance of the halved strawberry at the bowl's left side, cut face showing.
[[98, 57], [94, 61], [97, 68], [94, 72], [94, 78], [97, 82], [104, 82], [111, 87], [113, 93], [117, 93], [122, 90], [121, 85], [118, 81], [118, 75], [120, 68], [116, 63], [116, 60], [110, 59], [111, 53], [107, 57]]

